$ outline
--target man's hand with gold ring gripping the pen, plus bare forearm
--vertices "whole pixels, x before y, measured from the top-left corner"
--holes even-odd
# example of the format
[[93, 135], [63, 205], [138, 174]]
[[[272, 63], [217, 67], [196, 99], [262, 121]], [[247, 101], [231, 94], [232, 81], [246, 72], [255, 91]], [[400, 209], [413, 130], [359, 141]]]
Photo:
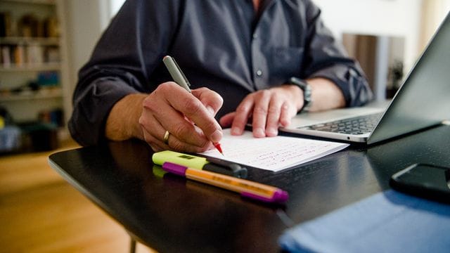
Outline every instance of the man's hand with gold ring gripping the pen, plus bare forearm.
[[[138, 99], [132, 103], [122, 103], [129, 96], [141, 98], [139, 108], [136, 106]], [[106, 136], [110, 139], [141, 138], [155, 151], [170, 149], [192, 153], [214, 148], [211, 142], [221, 140], [221, 127], [214, 115], [221, 108], [223, 100], [210, 89], [195, 89], [188, 93], [176, 83], [166, 82], [145, 98], [143, 94], [129, 96], [117, 102], [110, 112], [106, 125]], [[134, 107], [133, 111], [140, 111], [137, 117], [129, 119], [129, 128], [133, 125], [140, 128], [128, 136], [117, 135], [122, 127], [116, 127], [118, 131], [115, 133], [108, 132], [108, 129], [114, 129], [111, 126], [117, 123], [114, 119], [121, 115], [120, 108], [127, 110], [127, 106]], [[169, 131], [167, 144], [163, 141], [166, 131]]]

